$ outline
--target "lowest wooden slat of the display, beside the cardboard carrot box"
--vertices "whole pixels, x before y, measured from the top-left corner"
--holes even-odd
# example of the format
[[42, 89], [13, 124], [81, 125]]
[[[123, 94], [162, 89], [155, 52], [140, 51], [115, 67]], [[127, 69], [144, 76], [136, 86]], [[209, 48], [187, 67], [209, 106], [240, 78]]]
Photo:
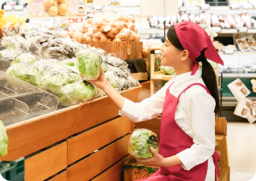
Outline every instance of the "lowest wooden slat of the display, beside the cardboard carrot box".
[[126, 161], [129, 161], [132, 157], [128, 156], [121, 160], [120, 162], [116, 163], [116, 165], [110, 167], [108, 170], [104, 171], [104, 173], [97, 176], [92, 181], [119, 181], [123, 179], [123, 165]]

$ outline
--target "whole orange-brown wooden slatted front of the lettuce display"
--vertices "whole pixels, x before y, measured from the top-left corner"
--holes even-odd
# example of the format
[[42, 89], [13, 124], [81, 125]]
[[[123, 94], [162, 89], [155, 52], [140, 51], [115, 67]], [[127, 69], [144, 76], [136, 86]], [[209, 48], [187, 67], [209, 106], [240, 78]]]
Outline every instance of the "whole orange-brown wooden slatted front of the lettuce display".
[[[135, 102], [141, 89], [120, 94]], [[26, 181], [77, 181], [120, 178], [134, 126], [105, 96], [6, 128], [8, 154], [1, 160], [26, 157]]]

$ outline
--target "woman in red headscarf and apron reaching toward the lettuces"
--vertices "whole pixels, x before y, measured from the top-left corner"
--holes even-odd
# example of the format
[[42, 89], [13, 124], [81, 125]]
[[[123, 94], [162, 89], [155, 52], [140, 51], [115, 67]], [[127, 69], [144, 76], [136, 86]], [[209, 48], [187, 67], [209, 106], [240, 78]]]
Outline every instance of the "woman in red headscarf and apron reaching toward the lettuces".
[[[133, 122], [155, 118], [162, 113], [160, 153], [151, 148], [152, 158], [136, 159], [143, 165], [160, 166], [147, 181], [214, 181], [220, 175], [215, 152], [215, 116], [219, 96], [214, 69], [206, 58], [223, 64], [207, 33], [191, 21], [169, 28], [161, 48], [163, 66], [176, 74], [158, 92], [140, 103], [123, 98], [108, 83], [101, 70], [96, 81]], [[202, 62], [202, 70], [198, 63]]]

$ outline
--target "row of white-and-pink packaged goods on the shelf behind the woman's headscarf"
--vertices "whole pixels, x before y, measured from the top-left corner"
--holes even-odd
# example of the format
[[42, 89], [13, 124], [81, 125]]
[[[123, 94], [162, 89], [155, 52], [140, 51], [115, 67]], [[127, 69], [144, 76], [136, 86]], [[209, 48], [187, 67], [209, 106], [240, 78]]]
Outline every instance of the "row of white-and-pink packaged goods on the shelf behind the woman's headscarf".
[[[164, 29], [163, 16], [153, 16], [150, 19], [151, 27]], [[193, 21], [197, 24], [207, 24], [212, 27], [221, 28], [256, 28], [256, 22], [248, 13], [242, 13], [239, 15], [221, 15], [217, 16], [214, 14], [202, 12], [198, 15], [194, 13], [187, 14], [186, 12], [179, 12], [177, 16], [167, 16], [165, 27], [169, 28], [171, 25], [179, 23], [181, 21]]]

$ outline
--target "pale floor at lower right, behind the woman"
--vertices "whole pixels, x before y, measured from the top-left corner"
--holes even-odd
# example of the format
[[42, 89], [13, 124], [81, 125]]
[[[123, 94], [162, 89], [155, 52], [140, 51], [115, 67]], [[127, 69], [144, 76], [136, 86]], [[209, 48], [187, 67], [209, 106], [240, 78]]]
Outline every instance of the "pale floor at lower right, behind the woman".
[[231, 181], [256, 181], [256, 123], [228, 122]]

